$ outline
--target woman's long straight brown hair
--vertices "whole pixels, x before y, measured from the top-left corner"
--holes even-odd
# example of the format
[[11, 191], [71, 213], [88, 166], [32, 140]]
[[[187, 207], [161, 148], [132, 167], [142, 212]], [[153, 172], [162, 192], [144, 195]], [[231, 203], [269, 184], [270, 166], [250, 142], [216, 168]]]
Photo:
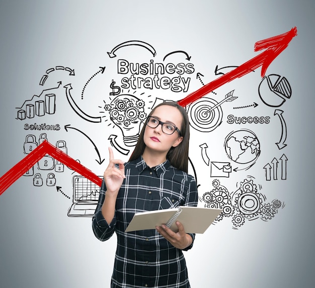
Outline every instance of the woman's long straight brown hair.
[[[177, 104], [176, 102], [163, 102], [159, 105], [155, 106], [152, 111], [149, 113], [148, 117], [151, 116], [157, 107], [161, 107], [164, 105], [176, 107], [183, 116], [183, 121], [181, 125], [181, 133], [183, 136], [183, 141], [177, 147], [171, 147], [167, 154], [167, 159], [170, 161], [171, 165], [180, 169], [182, 171], [188, 172], [188, 150], [189, 150], [189, 118], [187, 115], [186, 110]], [[144, 152], [145, 144], [143, 141], [143, 135], [145, 130], [146, 124], [141, 129], [138, 142], [129, 158], [129, 161], [136, 160], [142, 153]]]

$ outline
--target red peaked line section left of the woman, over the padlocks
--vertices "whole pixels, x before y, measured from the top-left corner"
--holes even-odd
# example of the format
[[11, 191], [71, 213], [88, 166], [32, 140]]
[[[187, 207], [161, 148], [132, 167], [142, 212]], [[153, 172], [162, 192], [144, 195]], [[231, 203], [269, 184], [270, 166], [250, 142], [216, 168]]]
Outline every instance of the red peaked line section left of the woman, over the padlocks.
[[85, 176], [97, 185], [102, 185], [102, 179], [94, 174], [87, 167], [78, 163], [66, 153], [50, 144], [47, 140], [44, 140], [38, 147], [36, 147], [30, 154], [25, 156], [19, 163], [13, 166], [6, 174], [0, 178], [0, 195], [10, 187], [17, 179], [31, 169], [41, 158], [46, 154], [60, 161], [64, 165], [68, 166], [72, 170]]

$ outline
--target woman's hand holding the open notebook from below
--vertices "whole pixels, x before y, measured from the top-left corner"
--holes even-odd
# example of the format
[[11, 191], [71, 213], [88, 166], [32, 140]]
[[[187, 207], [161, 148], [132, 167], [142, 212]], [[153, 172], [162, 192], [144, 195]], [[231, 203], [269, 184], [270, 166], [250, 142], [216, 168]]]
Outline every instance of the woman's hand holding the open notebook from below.
[[176, 221], [178, 232], [173, 232], [166, 225], [156, 226], [156, 231], [159, 232], [165, 239], [167, 239], [174, 247], [178, 249], [185, 249], [193, 242], [191, 236], [184, 230], [184, 226], [179, 221]]

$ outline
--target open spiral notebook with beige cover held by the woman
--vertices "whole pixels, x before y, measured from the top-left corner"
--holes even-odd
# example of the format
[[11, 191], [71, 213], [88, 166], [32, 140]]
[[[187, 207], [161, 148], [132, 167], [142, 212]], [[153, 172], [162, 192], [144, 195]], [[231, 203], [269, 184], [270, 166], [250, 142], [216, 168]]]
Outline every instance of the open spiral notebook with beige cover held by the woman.
[[186, 233], [204, 233], [222, 209], [180, 206], [178, 208], [140, 212], [134, 214], [125, 232], [155, 229], [166, 224], [178, 232], [176, 221], [183, 224]]

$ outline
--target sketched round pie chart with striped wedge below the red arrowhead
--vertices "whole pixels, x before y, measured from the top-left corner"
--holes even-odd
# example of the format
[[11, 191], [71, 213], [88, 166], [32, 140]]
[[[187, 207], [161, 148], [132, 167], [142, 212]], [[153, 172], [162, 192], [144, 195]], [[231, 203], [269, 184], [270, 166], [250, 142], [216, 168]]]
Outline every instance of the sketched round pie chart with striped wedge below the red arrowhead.
[[265, 76], [258, 86], [259, 97], [270, 107], [280, 107], [291, 97], [292, 89], [289, 81], [278, 74]]

